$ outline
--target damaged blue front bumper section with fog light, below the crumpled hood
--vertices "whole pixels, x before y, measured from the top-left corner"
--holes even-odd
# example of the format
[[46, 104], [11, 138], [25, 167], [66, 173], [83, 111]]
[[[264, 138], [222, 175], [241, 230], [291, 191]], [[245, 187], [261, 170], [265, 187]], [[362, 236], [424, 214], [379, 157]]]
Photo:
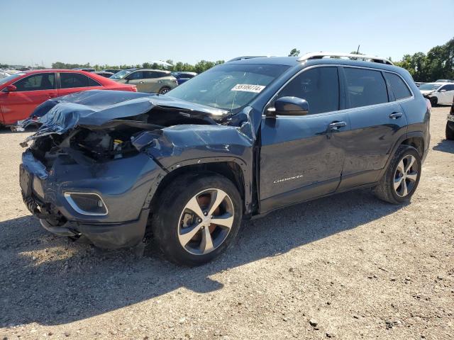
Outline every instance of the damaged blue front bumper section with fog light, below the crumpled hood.
[[127, 146], [124, 152], [114, 149], [119, 137], [100, 135], [80, 130], [79, 136], [66, 137], [67, 148], [59, 140], [64, 136], [35, 140], [22, 155], [23, 200], [50, 232], [83, 234], [103, 248], [133, 246], [144, 237], [149, 215], [145, 203], [165, 171]]

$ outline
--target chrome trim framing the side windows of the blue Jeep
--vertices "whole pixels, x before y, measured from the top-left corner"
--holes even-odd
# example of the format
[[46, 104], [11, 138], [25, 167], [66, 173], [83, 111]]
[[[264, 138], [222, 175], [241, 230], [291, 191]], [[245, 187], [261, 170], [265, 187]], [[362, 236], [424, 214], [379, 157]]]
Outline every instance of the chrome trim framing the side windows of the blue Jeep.
[[[281, 87], [279, 87], [279, 89], [276, 91], [275, 95], [272, 96], [270, 98], [269, 101], [267, 101], [267, 103], [265, 104], [265, 107], [263, 108], [263, 111], [262, 111], [262, 118], [263, 117], [267, 117], [267, 115], [265, 115], [265, 110], [267, 108], [267, 106], [270, 105], [270, 103], [275, 99], [275, 97], [279, 94], [279, 92], [285, 87], [287, 86], [287, 84], [289, 84], [290, 81], [292, 81], [293, 79], [295, 79], [296, 77], [299, 76], [299, 74], [301, 74], [302, 72], [308, 70], [308, 69], [314, 69], [315, 67], [350, 67], [350, 68], [353, 68], [353, 69], [370, 69], [372, 71], [377, 71], [377, 72], [389, 72], [389, 73], [392, 73], [392, 74], [397, 74], [397, 76], [399, 76], [402, 81], [404, 81], [404, 84], [408, 87], [408, 89], [410, 90], [410, 93], [411, 93], [411, 96], [410, 97], [406, 97], [406, 98], [403, 98], [403, 99], [399, 99], [399, 100], [396, 100], [396, 101], [388, 101], [387, 103], [380, 103], [380, 104], [373, 104], [373, 105], [367, 105], [367, 106], [358, 106], [357, 108], [345, 108], [343, 110], [338, 110], [338, 111], [329, 111], [329, 112], [323, 112], [323, 113], [316, 113], [314, 115], [293, 115], [293, 116], [279, 116], [279, 118], [306, 118], [306, 117], [310, 117], [310, 116], [319, 116], [319, 115], [325, 115], [325, 114], [328, 114], [328, 113], [343, 113], [343, 112], [348, 112], [348, 111], [352, 111], [352, 110], [357, 110], [357, 109], [362, 109], [362, 108], [375, 108], [377, 106], [385, 106], [385, 105], [389, 105], [389, 104], [392, 104], [392, 103], [404, 103], [406, 101], [411, 101], [412, 99], [414, 99], [414, 92], [411, 90], [411, 87], [409, 86], [409, 84], [405, 81], [405, 79], [397, 72], [393, 72], [393, 71], [388, 71], [388, 70], [385, 70], [385, 69], [375, 69], [373, 67], [363, 67], [363, 66], [350, 66], [350, 65], [343, 65], [343, 64], [319, 64], [319, 65], [314, 65], [314, 66], [310, 66], [310, 67], [306, 67], [304, 69], [301, 69], [298, 73], [294, 74], [292, 76], [292, 78], [290, 78], [289, 80], [287, 80]], [[386, 82], [386, 79], [384, 79], [384, 81]], [[340, 89], [340, 88], [339, 88]], [[310, 104], [309, 104], [310, 105]]]

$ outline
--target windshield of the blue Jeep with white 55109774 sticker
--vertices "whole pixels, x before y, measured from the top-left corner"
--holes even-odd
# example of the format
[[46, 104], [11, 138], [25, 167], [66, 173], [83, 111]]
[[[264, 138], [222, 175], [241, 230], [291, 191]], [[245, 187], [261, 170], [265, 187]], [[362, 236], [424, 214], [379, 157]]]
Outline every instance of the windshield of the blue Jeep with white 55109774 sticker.
[[288, 68], [273, 64], [222, 64], [189, 79], [167, 95], [238, 112]]

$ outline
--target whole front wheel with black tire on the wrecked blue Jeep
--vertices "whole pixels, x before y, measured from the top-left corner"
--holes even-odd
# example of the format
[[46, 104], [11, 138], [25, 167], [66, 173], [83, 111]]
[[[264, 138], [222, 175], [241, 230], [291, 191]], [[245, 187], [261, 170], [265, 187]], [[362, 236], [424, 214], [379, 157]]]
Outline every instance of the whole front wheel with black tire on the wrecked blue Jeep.
[[164, 189], [159, 201], [153, 234], [162, 253], [174, 263], [207, 263], [226, 251], [238, 234], [243, 204], [226, 177], [183, 175]]

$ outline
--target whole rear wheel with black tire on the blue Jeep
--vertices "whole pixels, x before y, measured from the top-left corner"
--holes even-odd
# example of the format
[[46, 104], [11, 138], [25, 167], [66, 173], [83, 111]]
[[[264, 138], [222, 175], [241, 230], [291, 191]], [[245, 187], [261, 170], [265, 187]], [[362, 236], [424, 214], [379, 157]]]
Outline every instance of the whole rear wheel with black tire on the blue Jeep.
[[409, 202], [418, 187], [420, 176], [421, 156], [418, 150], [401, 145], [375, 187], [375, 196], [392, 204]]

